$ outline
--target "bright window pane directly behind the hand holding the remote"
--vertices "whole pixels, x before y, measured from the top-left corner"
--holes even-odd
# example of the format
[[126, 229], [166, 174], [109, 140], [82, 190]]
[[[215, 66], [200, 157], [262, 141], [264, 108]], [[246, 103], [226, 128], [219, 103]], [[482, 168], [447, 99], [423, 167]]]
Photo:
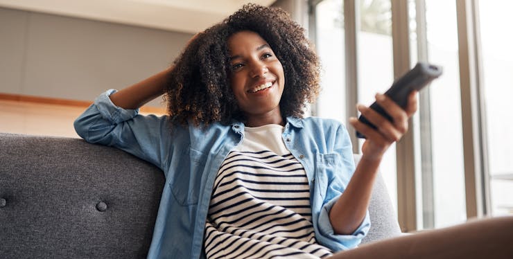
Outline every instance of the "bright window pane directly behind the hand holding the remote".
[[[360, 0], [357, 41], [358, 103], [371, 105], [376, 93], [384, 93], [394, 81], [392, 58], [392, 10], [390, 0]], [[357, 27], [358, 28], [358, 27]], [[356, 109], [356, 108], [354, 108]], [[358, 146], [364, 140], [358, 141]], [[380, 166], [383, 180], [397, 211], [397, 166], [393, 144]]]

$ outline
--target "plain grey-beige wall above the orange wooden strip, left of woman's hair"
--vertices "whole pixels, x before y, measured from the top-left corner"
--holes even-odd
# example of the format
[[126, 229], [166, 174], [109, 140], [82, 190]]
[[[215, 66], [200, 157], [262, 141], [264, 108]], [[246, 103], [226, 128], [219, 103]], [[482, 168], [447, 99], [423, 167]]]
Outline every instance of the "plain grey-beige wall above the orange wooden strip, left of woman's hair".
[[94, 100], [164, 69], [191, 36], [0, 8], [0, 93]]

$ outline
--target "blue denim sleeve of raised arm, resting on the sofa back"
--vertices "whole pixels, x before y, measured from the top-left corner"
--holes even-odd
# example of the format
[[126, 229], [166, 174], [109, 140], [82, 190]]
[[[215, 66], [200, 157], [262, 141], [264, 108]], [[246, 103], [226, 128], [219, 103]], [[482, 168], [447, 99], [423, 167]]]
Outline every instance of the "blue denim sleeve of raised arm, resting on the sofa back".
[[[110, 95], [102, 93], [73, 123], [78, 136], [89, 143], [110, 145], [162, 168], [163, 150], [169, 132], [165, 116], [142, 116], [139, 109], [114, 105]], [[164, 133], [165, 132], [165, 133]]]

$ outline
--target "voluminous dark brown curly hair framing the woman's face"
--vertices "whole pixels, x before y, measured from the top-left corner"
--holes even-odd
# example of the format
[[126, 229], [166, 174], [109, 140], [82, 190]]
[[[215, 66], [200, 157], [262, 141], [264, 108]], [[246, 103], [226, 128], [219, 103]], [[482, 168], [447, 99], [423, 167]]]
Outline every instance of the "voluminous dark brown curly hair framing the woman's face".
[[168, 75], [168, 115], [181, 125], [245, 120], [229, 81], [227, 39], [241, 30], [258, 33], [284, 68], [281, 116], [302, 118], [307, 102], [320, 91], [320, 64], [304, 28], [281, 8], [247, 4], [224, 21], [196, 35]]

